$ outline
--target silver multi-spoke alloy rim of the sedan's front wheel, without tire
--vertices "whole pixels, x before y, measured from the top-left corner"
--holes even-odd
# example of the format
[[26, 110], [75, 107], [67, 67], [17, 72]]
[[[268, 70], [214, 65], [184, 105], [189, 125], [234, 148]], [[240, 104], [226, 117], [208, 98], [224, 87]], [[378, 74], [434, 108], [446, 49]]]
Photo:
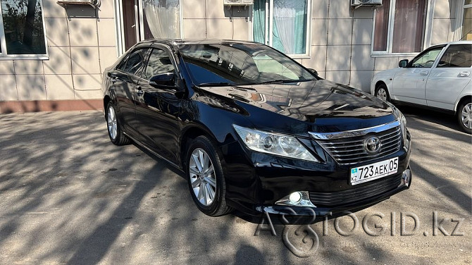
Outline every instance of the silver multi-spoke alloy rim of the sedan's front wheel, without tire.
[[192, 152], [189, 172], [195, 196], [202, 205], [209, 207], [215, 200], [216, 175], [213, 163], [204, 149], [197, 148]]

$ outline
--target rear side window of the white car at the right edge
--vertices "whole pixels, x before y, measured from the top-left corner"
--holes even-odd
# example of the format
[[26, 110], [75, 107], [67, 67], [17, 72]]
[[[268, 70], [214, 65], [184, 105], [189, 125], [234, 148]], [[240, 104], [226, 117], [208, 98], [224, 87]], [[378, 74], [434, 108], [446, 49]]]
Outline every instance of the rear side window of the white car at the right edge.
[[472, 45], [471, 44], [454, 44], [447, 48], [442, 55], [437, 68], [444, 67], [464, 67], [472, 66]]

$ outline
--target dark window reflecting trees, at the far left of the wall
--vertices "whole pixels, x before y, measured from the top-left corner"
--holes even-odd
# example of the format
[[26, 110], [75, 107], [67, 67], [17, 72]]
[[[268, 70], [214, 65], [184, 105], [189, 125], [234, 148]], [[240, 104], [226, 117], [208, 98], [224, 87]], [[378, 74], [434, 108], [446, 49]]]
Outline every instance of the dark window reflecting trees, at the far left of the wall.
[[0, 0], [1, 56], [45, 55], [46, 39], [40, 0]]

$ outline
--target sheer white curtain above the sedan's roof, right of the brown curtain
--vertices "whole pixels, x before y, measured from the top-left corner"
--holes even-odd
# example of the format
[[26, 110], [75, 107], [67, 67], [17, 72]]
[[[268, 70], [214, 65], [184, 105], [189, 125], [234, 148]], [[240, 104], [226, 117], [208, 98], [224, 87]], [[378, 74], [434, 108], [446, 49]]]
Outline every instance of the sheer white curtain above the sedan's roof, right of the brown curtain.
[[156, 39], [180, 39], [178, 0], [149, 0], [143, 3], [151, 34]]

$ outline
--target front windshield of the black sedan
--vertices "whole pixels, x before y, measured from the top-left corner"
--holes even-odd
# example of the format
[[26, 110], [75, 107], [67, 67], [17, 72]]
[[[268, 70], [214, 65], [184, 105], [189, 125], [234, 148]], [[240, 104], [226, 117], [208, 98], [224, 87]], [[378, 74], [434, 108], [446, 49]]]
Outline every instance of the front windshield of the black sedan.
[[298, 63], [262, 44], [185, 44], [180, 54], [199, 86], [316, 79]]

